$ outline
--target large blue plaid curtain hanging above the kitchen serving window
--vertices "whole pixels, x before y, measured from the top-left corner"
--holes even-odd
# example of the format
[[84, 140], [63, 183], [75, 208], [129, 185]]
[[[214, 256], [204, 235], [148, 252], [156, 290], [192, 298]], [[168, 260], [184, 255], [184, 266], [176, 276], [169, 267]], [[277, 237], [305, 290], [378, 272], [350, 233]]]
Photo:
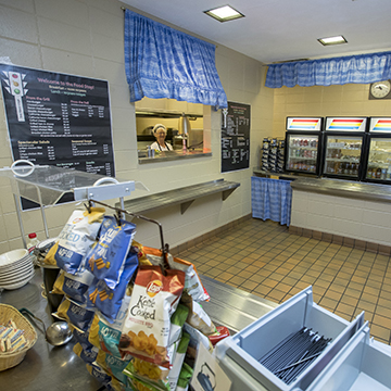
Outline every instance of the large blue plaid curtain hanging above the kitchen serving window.
[[125, 11], [125, 67], [130, 102], [172, 98], [227, 108], [214, 45], [129, 10]]

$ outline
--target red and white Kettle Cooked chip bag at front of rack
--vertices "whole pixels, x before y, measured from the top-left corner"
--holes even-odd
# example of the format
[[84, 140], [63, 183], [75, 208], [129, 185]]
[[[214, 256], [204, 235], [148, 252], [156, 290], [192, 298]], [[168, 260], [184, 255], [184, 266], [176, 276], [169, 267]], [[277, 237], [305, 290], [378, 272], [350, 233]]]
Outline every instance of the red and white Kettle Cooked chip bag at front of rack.
[[169, 368], [167, 346], [171, 316], [184, 290], [185, 273], [160, 266], [141, 266], [137, 273], [127, 317], [119, 341], [126, 356], [148, 361]]

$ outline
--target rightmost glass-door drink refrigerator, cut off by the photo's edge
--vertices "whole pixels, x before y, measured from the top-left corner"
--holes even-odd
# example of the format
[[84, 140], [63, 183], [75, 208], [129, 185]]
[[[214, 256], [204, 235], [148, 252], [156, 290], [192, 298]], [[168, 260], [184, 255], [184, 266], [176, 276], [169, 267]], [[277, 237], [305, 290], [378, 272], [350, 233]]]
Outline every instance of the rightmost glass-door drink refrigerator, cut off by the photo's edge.
[[366, 181], [391, 185], [391, 117], [369, 118]]

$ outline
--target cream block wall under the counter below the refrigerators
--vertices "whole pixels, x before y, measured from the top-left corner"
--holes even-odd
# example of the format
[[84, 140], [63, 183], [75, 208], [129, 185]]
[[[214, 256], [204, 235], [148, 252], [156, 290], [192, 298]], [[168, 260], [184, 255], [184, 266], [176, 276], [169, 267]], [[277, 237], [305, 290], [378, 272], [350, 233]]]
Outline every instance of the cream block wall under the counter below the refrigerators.
[[391, 245], [391, 204], [293, 190], [291, 225]]

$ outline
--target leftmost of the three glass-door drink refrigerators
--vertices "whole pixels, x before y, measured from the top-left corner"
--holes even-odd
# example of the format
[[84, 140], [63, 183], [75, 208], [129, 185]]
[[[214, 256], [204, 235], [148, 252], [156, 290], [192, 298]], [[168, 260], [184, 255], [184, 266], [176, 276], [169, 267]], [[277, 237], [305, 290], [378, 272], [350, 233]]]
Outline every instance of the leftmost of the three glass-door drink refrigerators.
[[285, 171], [319, 175], [323, 117], [287, 117]]

